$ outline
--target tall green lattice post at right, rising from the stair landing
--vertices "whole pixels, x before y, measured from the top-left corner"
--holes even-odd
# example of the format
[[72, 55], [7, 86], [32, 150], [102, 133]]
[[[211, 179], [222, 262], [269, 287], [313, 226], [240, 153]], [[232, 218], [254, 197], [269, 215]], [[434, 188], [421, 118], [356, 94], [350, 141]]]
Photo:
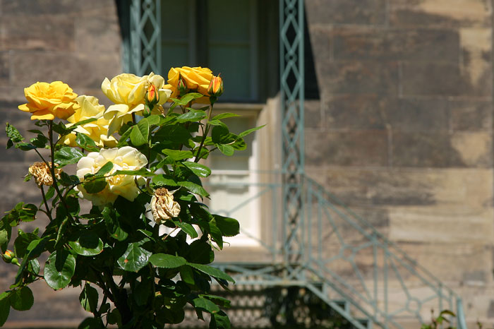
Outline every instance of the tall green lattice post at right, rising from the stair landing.
[[[279, 1], [279, 63], [282, 108], [282, 172], [284, 220], [282, 232], [285, 262], [303, 258], [303, 0]], [[288, 272], [294, 270], [287, 266]]]

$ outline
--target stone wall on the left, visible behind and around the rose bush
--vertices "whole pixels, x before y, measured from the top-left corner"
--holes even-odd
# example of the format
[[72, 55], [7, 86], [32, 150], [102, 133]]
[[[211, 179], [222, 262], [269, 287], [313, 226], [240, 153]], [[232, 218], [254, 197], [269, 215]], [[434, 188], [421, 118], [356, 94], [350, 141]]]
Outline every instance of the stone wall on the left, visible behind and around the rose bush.
[[[104, 100], [100, 85], [105, 76], [121, 73], [121, 37], [114, 0], [0, 0], [0, 126], [9, 122], [21, 133], [32, 129], [29, 114], [17, 109], [25, 103], [23, 88], [37, 81], [62, 80], [78, 94]], [[29, 135], [25, 135], [29, 136]], [[23, 183], [34, 155], [5, 150], [0, 133], [0, 213], [19, 201], [39, 203], [34, 181]], [[29, 152], [30, 153], [30, 152]], [[39, 223], [29, 223], [27, 230]], [[41, 226], [41, 225], [40, 225]], [[44, 225], [43, 225], [44, 226]], [[13, 282], [13, 268], [0, 265], [0, 290]], [[8, 325], [71, 325], [87, 316], [77, 289], [54, 292], [34, 285], [35, 306], [29, 312], [11, 311]]]

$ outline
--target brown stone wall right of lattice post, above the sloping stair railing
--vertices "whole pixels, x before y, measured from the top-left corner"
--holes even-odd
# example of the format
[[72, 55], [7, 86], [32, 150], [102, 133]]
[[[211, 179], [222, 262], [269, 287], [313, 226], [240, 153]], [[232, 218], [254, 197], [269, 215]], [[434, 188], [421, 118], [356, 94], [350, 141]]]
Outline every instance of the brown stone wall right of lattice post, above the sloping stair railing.
[[494, 322], [493, 1], [306, 0], [307, 172]]

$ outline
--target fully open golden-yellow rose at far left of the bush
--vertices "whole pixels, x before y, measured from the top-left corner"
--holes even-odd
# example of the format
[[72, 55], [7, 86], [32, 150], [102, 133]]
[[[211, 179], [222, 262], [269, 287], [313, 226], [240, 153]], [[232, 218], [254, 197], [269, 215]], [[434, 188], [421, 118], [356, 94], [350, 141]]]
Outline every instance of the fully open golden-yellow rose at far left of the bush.
[[53, 120], [55, 117], [67, 119], [78, 108], [77, 94], [61, 81], [33, 83], [24, 88], [24, 95], [28, 103], [19, 105], [18, 108], [32, 113], [31, 120]]

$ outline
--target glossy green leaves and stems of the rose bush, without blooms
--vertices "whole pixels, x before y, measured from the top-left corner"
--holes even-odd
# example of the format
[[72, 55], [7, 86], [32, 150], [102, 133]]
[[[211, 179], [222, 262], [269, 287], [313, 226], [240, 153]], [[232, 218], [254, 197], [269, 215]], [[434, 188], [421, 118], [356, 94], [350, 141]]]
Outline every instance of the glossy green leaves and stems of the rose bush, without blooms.
[[[222, 119], [236, 114], [218, 114], [211, 119], [212, 105], [192, 107], [200, 97], [204, 95], [198, 92], [181, 95], [166, 114], [153, 110], [145, 118], [121, 126], [116, 147], [134, 148], [146, 157], [145, 167], [129, 169], [112, 160], [84, 177], [66, 172], [54, 175], [51, 170], [47, 174], [52, 176], [53, 185], [36, 187], [42, 199], [39, 207], [20, 202], [1, 218], [0, 248], [4, 260], [17, 266], [18, 272], [11, 290], [0, 295], [0, 326], [11, 308], [31, 308], [34, 297], [28, 286], [44, 280], [56, 290], [80, 287], [80, 304], [92, 316], [78, 328], [164, 328], [167, 323], [183, 321], [186, 304], [195, 308], [199, 318], [203, 312], [210, 313], [210, 328], [230, 328], [223, 311], [229, 301], [211, 295], [210, 283], [217, 280], [224, 286], [234, 280], [208, 264], [215, 259], [213, 249], [223, 248], [223, 238], [239, 233], [239, 222], [211, 214], [207, 205], [200, 203], [203, 200], [199, 199], [209, 196], [200, 179], [209, 177], [211, 169], [198, 162], [216, 149], [226, 155], [243, 150], [243, 136], [256, 128], [239, 135], [231, 133]], [[154, 105], [145, 106], [152, 109]], [[42, 162], [53, 161], [57, 170], [75, 166], [88, 152], [101, 150], [90, 136], [74, 132], [92, 121], [95, 118], [71, 126], [37, 121], [39, 129], [29, 131], [35, 134], [29, 143], [7, 124], [7, 148], [49, 148], [49, 157]], [[75, 133], [75, 146], [56, 140], [55, 133], [60, 140]], [[157, 169], [161, 173], [156, 173]], [[93, 201], [92, 210], [81, 213], [78, 192], [94, 198], [104, 196], [110, 184], [129, 176], [131, 185], [138, 186], [133, 198], [122, 193], [104, 204]], [[28, 175], [25, 181], [30, 178]], [[155, 190], [162, 188], [180, 209], [174, 217], [157, 222], [175, 234], [159, 235], [159, 225], [151, 225], [154, 223], [146, 217], [151, 214]], [[49, 224], [32, 232], [18, 229], [11, 241], [12, 229], [21, 222], [36, 220], [40, 212], [47, 215]], [[13, 251], [8, 251], [12, 245]], [[46, 259], [41, 273], [40, 257]]]

